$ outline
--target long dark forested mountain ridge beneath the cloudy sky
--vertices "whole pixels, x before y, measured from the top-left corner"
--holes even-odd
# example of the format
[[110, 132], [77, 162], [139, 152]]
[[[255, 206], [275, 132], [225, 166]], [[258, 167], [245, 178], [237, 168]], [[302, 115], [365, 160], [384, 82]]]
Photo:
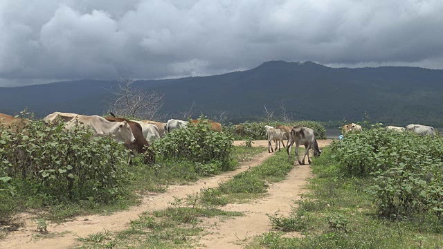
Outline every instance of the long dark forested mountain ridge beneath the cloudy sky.
[[[37, 116], [53, 111], [103, 113], [115, 81], [79, 80], [0, 88], [0, 112], [28, 107]], [[443, 127], [443, 70], [405, 66], [329, 68], [314, 62], [265, 62], [247, 71], [136, 85], [163, 93], [163, 112], [174, 116], [196, 103], [196, 115], [226, 111], [234, 122], [263, 116], [264, 105], [278, 118], [280, 104], [296, 120], [372, 120]]]

